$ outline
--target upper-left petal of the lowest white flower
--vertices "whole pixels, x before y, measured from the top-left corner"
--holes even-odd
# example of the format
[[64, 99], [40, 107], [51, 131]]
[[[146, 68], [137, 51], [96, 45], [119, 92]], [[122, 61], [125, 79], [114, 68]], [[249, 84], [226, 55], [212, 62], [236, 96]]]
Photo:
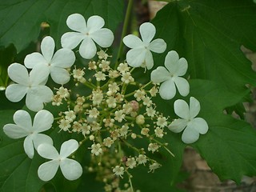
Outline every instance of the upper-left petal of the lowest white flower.
[[59, 154], [58, 151], [55, 149], [54, 146], [50, 145], [49, 143], [42, 143], [38, 146], [38, 154], [42, 158], [48, 159], [58, 159]]

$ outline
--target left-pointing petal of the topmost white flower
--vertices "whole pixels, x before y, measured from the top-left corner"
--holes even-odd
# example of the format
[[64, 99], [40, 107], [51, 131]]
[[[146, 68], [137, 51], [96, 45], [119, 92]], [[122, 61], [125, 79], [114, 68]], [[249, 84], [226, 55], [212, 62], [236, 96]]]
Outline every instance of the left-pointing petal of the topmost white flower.
[[85, 34], [81, 34], [78, 32], [67, 32], [66, 34], [62, 35], [62, 47], [73, 50], [76, 46], [78, 46], [80, 42], [82, 42], [82, 39], [84, 39], [85, 37]]

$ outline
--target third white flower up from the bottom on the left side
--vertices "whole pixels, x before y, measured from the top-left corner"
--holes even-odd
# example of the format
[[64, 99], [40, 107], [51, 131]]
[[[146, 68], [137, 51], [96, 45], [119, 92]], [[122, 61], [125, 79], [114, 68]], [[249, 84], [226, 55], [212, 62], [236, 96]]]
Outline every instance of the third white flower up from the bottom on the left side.
[[48, 78], [48, 70], [45, 67], [37, 66], [33, 70], [26, 70], [25, 66], [13, 63], [8, 67], [8, 74], [14, 84], [7, 86], [6, 98], [11, 102], [19, 102], [26, 95], [26, 106], [30, 110], [42, 110], [44, 102], [50, 102], [53, 91], [45, 86]]

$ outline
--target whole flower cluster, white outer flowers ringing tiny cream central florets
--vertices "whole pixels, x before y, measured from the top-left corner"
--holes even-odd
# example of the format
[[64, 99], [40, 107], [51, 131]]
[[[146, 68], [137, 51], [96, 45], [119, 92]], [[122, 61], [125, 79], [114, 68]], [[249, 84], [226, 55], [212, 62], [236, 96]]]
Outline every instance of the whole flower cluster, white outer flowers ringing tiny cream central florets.
[[[102, 28], [103, 18], [92, 16], [86, 22], [81, 14], [71, 14], [66, 24], [74, 31], [62, 35], [62, 49], [54, 53], [54, 39], [47, 36], [42, 40], [42, 54], [29, 54], [25, 66], [14, 63], [8, 68], [15, 83], [7, 87], [6, 97], [18, 102], [26, 96], [26, 106], [37, 114], [32, 124], [30, 114], [18, 110], [14, 114], [15, 124], [7, 124], [3, 130], [10, 138], [26, 137], [24, 150], [29, 158], [33, 158], [37, 150], [42, 158], [50, 159], [38, 167], [38, 177], [42, 181], [54, 178], [58, 167], [69, 180], [79, 178], [83, 170], [87, 170], [97, 173], [97, 179], [106, 183], [106, 191], [121, 190], [119, 182], [126, 175], [129, 184], [123, 191], [130, 191], [130, 170], [148, 166], [153, 173], [161, 167], [152, 158], [159, 150], [174, 156], [168, 143], [163, 142], [169, 130], [174, 133], [184, 130], [182, 141], [186, 143], [196, 142], [199, 134], [206, 134], [208, 130], [206, 121], [196, 118], [200, 110], [196, 98], [190, 97], [190, 106], [181, 99], [174, 102], [174, 112], [180, 117], [175, 120], [158, 111], [154, 102], [158, 94], [166, 100], [174, 98], [176, 87], [183, 97], [189, 94], [189, 83], [182, 78], [188, 63], [185, 58], [179, 58], [176, 51], [170, 50], [165, 67], [158, 66], [151, 72], [150, 82], [142, 84], [136, 81], [134, 70], [138, 67], [151, 70], [154, 67], [151, 51], [160, 54], [166, 50], [163, 39], [154, 39], [153, 24], [146, 22], [140, 26], [142, 39], [133, 34], [122, 39], [131, 50], [125, 61], [116, 63], [112, 63], [111, 55], [102, 50], [114, 41], [111, 30]], [[82, 67], [74, 66], [73, 49], [80, 43], [79, 54], [90, 59]], [[58, 88], [46, 86], [49, 76], [60, 85]], [[77, 88], [64, 86], [70, 80]], [[66, 110], [59, 111], [54, 118], [50, 111], [43, 110], [47, 102], [51, 102], [52, 107], [66, 106]], [[53, 146], [53, 139], [41, 134], [50, 130], [54, 119], [58, 123], [54, 129], [77, 138], [63, 142], [60, 153]], [[137, 145], [140, 141], [144, 143], [142, 146]], [[72, 158], [84, 143], [89, 146], [86, 151], [90, 152], [91, 162], [82, 167]]]

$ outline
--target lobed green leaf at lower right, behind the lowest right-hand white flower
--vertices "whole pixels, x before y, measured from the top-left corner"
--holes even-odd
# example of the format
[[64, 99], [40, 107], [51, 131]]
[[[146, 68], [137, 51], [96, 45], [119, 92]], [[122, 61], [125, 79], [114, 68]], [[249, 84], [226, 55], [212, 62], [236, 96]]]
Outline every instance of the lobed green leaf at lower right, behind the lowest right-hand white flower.
[[214, 82], [190, 82], [191, 95], [198, 99], [198, 117], [206, 119], [209, 131], [192, 146], [222, 180], [240, 182], [243, 175], [256, 174], [256, 131], [249, 123], [224, 114], [227, 106], [237, 103], [242, 94], [232, 94]]

